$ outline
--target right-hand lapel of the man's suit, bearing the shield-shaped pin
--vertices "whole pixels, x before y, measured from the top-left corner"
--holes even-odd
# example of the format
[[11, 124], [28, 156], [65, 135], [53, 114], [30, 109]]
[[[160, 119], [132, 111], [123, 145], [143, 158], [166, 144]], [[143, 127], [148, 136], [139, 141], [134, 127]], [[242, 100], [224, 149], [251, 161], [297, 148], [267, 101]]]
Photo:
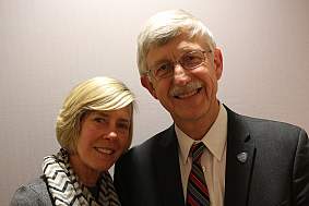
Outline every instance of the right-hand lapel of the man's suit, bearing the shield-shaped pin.
[[225, 206], [247, 206], [255, 147], [243, 117], [227, 109]]

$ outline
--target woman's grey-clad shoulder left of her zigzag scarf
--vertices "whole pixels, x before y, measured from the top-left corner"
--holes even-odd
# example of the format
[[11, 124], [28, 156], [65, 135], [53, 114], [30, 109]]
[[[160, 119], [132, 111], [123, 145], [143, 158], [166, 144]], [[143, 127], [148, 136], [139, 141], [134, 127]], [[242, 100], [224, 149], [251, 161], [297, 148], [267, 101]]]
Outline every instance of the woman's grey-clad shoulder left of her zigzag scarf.
[[21, 185], [14, 193], [11, 206], [51, 206], [50, 196], [44, 177]]

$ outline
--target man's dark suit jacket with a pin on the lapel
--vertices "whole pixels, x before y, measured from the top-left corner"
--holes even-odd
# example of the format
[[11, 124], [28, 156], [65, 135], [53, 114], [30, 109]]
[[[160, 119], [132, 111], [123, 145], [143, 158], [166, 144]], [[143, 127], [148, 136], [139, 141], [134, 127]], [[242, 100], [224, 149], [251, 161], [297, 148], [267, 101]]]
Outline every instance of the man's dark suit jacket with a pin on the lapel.
[[[227, 109], [225, 206], [309, 206], [309, 141], [295, 125]], [[237, 155], [248, 153], [246, 162]], [[122, 206], [185, 206], [174, 125], [115, 167]]]

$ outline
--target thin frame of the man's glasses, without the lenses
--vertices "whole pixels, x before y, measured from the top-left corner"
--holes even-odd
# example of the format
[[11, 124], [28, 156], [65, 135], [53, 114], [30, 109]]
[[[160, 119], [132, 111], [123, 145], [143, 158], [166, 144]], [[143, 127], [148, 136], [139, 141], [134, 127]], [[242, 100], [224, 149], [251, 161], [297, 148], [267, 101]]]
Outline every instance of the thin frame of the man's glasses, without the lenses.
[[[197, 64], [197, 65], [194, 65], [194, 66], [191, 66], [191, 68], [188, 68], [188, 66], [183, 66], [182, 65], [182, 63], [181, 63], [181, 59], [186, 56], [186, 54], [188, 54], [188, 53], [192, 53], [192, 52], [202, 52], [203, 53], [203, 59], [202, 59], [202, 61], [201, 61], [201, 63], [199, 63], [199, 64]], [[178, 58], [178, 60], [176, 60], [176, 61], [169, 61], [169, 63], [171, 63], [173, 64], [173, 69], [175, 70], [175, 66], [177, 65], [177, 64], [179, 64], [182, 69], [185, 69], [185, 70], [194, 70], [194, 69], [197, 69], [197, 68], [199, 68], [199, 66], [201, 66], [203, 63], [205, 63], [205, 61], [206, 61], [206, 54], [207, 53], [212, 53], [213, 51], [212, 51], [212, 49], [209, 49], [209, 50], [190, 50], [190, 51], [188, 51], [188, 52], [186, 52], [186, 53], [183, 53], [180, 58]], [[153, 70], [147, 70], [146, 71], [146, 75], [147, 76], [151, 76], [151, 77], [153, 77], [154, 80], [156, 80], [156, 81], [159, 81], [159, 80], [163, 80], [163, 78], [168, 78], [168, 77], [170, 77], [173, 74], [174, 74], [174, 70], [173, 70], [173, 72], [170, 73], [170, 74], [168, 74], [167, 76], [155, 76], [154, 75], [154, 72], [153, 71], [155, 71], [154, 69]]]

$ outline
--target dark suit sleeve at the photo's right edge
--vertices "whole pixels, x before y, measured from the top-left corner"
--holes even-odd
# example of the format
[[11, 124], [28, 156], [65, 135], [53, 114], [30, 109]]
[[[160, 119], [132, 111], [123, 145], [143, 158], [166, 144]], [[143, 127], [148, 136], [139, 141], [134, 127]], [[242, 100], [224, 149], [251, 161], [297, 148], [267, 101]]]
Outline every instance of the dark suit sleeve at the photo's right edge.
[[300, 130], [293, 172], [294, 205], [309, 205], [309, 140]]

